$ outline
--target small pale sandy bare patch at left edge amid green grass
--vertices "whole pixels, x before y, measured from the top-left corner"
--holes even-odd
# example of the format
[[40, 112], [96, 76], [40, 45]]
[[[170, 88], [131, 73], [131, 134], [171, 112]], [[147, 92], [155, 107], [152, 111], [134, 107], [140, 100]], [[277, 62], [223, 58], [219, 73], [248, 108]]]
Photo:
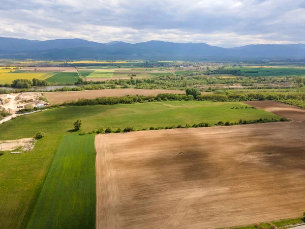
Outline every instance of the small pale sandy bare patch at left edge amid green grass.
[[21, 148], [24, 152], [32, 151], [35, 147], [36, 140], [34, 138], [21, 138], [17, 140], [0, 141], [2, 151], [12, 151]]

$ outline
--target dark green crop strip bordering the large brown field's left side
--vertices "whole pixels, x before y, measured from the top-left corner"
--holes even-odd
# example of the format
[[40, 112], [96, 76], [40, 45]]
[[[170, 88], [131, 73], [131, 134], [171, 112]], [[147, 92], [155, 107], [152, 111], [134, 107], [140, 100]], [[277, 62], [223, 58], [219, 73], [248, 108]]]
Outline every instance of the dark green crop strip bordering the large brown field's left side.
[[95, 228], [95, 135], [65, 135], [26, 228]]

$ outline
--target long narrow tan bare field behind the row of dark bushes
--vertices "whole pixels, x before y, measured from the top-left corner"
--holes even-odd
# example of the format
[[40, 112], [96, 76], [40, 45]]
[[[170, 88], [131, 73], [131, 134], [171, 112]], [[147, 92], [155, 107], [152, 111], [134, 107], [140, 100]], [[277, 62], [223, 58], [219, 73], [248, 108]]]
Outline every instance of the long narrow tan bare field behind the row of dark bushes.
[[[77, 100], [81, 98], [94, 99], [103, 96], [125, 96], [125, 95], [154, 95], [161, 93], [185, 94], [185, 91], [178, 90], [146, 90], [146, 89], [104, 89], [92, 91], [75, 91], [75, 92], [49, 92], [44, 95], [49, 99], [50, 103], [63, 103], [65, 101]], [[208, 92], [201, 92], [208, 94]]]

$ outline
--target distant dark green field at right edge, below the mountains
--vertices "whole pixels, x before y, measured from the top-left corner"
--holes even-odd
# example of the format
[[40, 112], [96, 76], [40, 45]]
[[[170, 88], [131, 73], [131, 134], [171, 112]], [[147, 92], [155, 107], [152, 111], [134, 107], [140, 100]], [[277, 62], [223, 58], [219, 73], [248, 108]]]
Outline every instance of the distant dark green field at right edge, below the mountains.
[[[305, 76], [305, 69], [295, 69], [295, 68], [279, 68], [279, 67], [269, 67], [269, 68], [249, 68], [249, 67], [234, 67], [227, 68], [229, 70], [240, 70], [245, 76]], [[256, 71], [255, 73], [251, 73]]]

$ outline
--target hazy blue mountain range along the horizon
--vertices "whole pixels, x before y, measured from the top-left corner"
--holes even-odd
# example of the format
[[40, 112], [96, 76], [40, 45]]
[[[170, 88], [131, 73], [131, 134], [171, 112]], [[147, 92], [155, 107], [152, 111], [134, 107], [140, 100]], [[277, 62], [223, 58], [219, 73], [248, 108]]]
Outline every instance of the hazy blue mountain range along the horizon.
[[1, 59], [36, 60], [208, 60], [305, 58], [305, 44], [246, 45], [222, 48], [205, 43], [147, 41], [98, 43], [82, 39], [26, 40], [0, 37]]

